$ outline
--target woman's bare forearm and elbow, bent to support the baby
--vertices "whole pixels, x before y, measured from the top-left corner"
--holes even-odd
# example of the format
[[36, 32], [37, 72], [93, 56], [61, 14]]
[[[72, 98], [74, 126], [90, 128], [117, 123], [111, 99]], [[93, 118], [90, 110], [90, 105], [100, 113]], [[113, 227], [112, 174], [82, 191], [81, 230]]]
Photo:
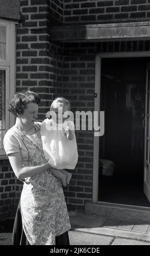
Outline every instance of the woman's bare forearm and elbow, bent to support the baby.
[[22, 156], [20, 152], [11, 153], [8, 155], [12, 170], [18, 179], [24, 179], [30, 176], [34, 176], [51, 168], [48, 162], [41, 164], [40, 166], [23, 166]]

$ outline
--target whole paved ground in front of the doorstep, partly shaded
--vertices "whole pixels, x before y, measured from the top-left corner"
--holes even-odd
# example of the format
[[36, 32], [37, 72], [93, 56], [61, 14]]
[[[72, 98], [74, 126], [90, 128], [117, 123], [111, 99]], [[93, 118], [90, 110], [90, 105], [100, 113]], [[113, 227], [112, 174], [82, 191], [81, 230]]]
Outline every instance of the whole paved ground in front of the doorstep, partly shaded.
[[[150, 225], [146, 221], [70, 212], [70, 245], [150, 245]], [[11, 245], [12, 233], [0, 233], [0, 245]]]

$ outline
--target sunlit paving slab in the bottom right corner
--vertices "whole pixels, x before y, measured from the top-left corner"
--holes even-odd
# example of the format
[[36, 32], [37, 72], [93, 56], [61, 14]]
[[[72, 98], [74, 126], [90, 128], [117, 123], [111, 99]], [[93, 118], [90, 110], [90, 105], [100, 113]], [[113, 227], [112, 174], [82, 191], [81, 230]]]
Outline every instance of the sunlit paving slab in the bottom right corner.
[[116, 238], [111, 245], [150, 245], [150, 242]]

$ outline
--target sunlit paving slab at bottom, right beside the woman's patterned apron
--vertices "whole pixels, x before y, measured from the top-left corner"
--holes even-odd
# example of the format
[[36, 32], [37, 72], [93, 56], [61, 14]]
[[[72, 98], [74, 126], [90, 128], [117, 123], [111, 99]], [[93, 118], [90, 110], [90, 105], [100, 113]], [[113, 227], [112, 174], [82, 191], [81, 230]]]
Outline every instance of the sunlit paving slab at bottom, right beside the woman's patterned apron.
[[80, 231], [69, 231], [70, 245], [111, 245], [113, 236], [89, 234]]

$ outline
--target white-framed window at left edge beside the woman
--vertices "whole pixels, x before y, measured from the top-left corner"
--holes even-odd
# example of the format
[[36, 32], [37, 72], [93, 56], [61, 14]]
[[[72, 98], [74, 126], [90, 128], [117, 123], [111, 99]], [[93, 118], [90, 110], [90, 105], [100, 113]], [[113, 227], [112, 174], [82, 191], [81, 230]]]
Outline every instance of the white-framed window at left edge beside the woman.
[[0, 159], [6, 157], [4, 135], [14, 125], [8, 101], [15, 94], [15, 27], [15, 22], [0, 20]]

